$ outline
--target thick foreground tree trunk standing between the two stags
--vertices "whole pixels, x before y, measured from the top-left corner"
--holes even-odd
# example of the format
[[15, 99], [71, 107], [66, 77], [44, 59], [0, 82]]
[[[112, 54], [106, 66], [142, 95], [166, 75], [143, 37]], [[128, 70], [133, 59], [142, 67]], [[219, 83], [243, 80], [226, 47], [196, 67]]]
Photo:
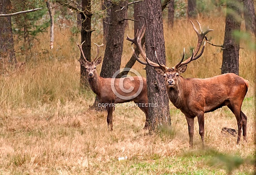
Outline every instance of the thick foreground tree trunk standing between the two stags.
[[[146, 0], [146, 54], [151, 61], [156, 62], [155, 50], [159, 61], [165, 64], [165, 47], [163, 38], [163, 15], [160, 0]], [[164, 79], [154, 68], [146, 66], [148, 87], [149, 131], [156, 131], [160, 126], [170, 126], [171, 117], [169, 100], [165, 91]], [[155, 104], [155, 106], [150, 106]]]

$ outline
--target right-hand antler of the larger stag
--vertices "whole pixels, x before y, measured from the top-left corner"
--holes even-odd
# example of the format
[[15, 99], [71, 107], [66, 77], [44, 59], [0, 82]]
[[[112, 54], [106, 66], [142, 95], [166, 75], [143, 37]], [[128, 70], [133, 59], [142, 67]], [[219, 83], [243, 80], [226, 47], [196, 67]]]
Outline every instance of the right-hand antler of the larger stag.
[[[198, 26], [199, 26], [199, 28], [200, 28], [200, 33], [199, 33], [198, 30], [197, 30], [197, 28], [196, 28], [196, 26], [193, 24], [193, 22], [192, 22], [192, 21], [190, 21], [190, 22], [192, 23], [193, 28], [194, 28], [195, 32], [197, 33], [197, 37], [198, 37], [196, 51], [193, 50], [193, 54], [191, 55], [191, 57], [188, 58], [188, 59], [186, 59], [184, 62], [182, 62], [183, 59], [184, 59], [184, 50], [183, 50], [182, 60], [181, 60], [178, 64], [176, 64], [176, 65], [173, 67], [173, 69], [178, 69], [179, 67], [182, 67], [182, 66], [188, 64], [189, 62], [191, 62], [191, 61], [196, 60], [197, 58], [199, 58], [199, 57], [203, 54], [203, 52], [204, 52], [204, 47], [205, 47], [205, 41], [204, 41], [204, 45], [203, 45], [203, 47], [202, 47], [202, 50], [200, 51], [200, 54], [197, 55], [197, 53], [198, 53], [198, 51], [200, 50], [200, 47], [201, 47], [201, 45], [202, 45], [202, 42], [203, 42], [204, 38], [205, 38], [205, 40], [208, 40], [205, 35], [206, 35], [207, 33], [211, 32], [211, 31], [213, 31], [213, 29], [209, 29], [209, 28], [208, 28], [208, 29], [203, 33], [202, 27], [201, 27], [200, 23], [197, 21], [197, 24], [198, 24]], [[196, 56], [196, 55], [197, 55], [197, 56]], [[194, 57], [194, 56], [195, 56], [195, 57]]]

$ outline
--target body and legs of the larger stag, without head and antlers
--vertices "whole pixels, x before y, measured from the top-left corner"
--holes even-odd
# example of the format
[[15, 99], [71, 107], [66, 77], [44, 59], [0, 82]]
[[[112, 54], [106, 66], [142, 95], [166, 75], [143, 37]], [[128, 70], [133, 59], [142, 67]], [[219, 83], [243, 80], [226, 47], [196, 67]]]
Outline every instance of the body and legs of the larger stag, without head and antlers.
[[194, 117], [197, 116], [199, 134], [204, 145], [204, 113], [227, 106], [235, 115], [238, 126], [237, 143], [246, 140], [247, 117], [241, 111], [249, 82], [234, 73], [198, 79], [179, 76], [174, 87], [167, 84], [167, 94], [172, 104], [185, 114], [189, 129], [189, 145], [193, 147]]

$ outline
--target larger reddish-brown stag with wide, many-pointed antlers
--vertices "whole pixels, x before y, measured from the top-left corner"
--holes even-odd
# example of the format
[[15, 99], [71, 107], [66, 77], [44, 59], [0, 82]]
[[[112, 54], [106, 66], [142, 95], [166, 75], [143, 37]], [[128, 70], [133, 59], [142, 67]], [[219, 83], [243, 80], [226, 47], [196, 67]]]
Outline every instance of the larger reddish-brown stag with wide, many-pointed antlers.
[[237, 144], [240, 142], [241, 128], [243, 130], [243, 139], [246, 141], [247, 117], [241, 111], [241, 106], [249, 86], [248, 80], [234, 73], [226, 73], [205, 79], [183, 78], [180, 76], [181, 73], [186, 71], [189, 62], [196, 60], [203, 54], [205, 42], [200, 53], [197, 55], [204, 38], [207, 40], [205, 35], [213, 31], [212, 29], [208, 29], [203, 33], [200, 23], [197, 22], [200, 27], [199, 33], [193, 22], [191, 23], [198, 36], [197, 47], [193, 51], [192, 56], [185, 61], [183, 61], [185, 55], [185, 51], [183, 51], [181, 61], [172, 68], [160, 64], [157, 56], [157, 63], [150, 61], [146, 57], [141, 47], [141, 38], [145, 33], [144, 26], [137, 32], [134, 39], [127, 36], [126, 40], [131, 41], [132, 44], [134, 43], [139, 48], [140, 54], [145, 61], [139, 60], [136, 54], [134, 54], [138, 62], [154, 67], [156, 73], [163, 75], [165, 78], [166, 91], [169, 99], [176, 108], [185, 114], [189, 130], [189, 147], [193, 147], [194, 118], [196, 116], [198, 118], [199, 134], [204, 147], [204, 113], [214, 111], [223, 106], [227, 106], [237, 119]]

